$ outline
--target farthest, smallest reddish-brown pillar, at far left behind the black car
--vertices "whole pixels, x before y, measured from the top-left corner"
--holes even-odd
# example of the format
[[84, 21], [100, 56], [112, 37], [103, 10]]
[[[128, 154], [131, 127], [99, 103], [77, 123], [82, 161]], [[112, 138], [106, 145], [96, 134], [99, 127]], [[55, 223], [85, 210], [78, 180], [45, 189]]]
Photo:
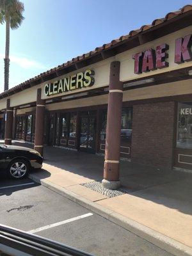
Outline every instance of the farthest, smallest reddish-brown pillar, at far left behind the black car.
[[4, 144], [12, 145], [12, 129], [13, 129], [13, 108], [10, 107], [10, 99], [6, 100], [6, 118], [4, 130]]

